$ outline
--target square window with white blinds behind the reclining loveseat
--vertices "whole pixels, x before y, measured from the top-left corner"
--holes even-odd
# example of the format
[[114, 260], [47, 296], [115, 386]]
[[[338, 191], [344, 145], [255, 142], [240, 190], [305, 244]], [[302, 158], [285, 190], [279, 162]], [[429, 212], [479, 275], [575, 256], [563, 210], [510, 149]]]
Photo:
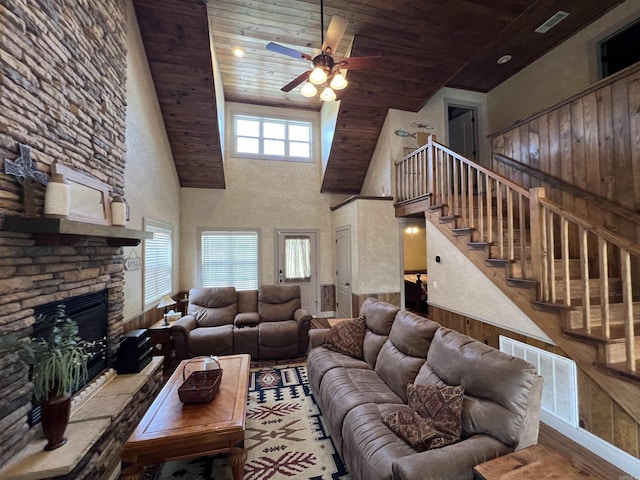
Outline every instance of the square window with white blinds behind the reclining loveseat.
[[203, 231], [200, 251], [203, 287], [258, 288], [257, 231]]

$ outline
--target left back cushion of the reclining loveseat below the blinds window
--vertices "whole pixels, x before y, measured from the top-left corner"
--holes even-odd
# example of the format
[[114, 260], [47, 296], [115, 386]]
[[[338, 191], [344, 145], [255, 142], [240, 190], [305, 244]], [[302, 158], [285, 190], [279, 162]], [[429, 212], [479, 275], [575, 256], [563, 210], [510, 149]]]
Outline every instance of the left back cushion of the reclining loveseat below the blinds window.
[[192, 288], [187, 313], [196, 319], [197, 327], [218, 327], [233, 323], [238, 306], [234, 287]]

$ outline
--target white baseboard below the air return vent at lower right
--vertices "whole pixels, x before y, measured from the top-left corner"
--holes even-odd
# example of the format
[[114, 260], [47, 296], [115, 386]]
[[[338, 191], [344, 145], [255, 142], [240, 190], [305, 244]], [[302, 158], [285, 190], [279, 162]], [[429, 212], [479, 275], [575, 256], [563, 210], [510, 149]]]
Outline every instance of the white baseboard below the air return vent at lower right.
[[640, 479], [640, 459], [637, 459], [636, 457], [629, 455], [627, 452], [620, 450], [618, 447], [605, 442], [591, 432], [586, 431], [584, 428], [573, 428], [544, 411], [540, 412], [540, 420], [564, 436], [569, 437], [574, 442], [590, 450], [595, 455], [598, 455], [603, 460], [606, 460], [610, 464], [615, 465], [620, 470], [629, 474], [628, 478], [622, 477], [612, 480]]

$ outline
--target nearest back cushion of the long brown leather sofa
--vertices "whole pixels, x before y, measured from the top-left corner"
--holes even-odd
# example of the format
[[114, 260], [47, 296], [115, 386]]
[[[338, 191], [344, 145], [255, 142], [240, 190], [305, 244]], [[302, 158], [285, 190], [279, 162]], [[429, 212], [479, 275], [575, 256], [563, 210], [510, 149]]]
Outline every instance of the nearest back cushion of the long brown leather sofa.
[[447, 328], [436, 333], [427, 362], [445, 383], [464, 386], [465, 435], [488, 433], [517, 445], [528, 398], [538, 388], [533, 365]]

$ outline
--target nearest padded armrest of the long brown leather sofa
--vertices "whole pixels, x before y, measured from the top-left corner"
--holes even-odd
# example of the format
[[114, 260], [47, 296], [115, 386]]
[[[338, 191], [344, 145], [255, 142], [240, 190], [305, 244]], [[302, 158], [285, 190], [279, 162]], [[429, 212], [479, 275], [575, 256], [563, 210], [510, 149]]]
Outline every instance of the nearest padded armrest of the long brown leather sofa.
[[453, 445], [407, 455], [393, 461], [393, 480], [473, 478], [473, 467], [513, 449], [489, 435], [473, 435]]

